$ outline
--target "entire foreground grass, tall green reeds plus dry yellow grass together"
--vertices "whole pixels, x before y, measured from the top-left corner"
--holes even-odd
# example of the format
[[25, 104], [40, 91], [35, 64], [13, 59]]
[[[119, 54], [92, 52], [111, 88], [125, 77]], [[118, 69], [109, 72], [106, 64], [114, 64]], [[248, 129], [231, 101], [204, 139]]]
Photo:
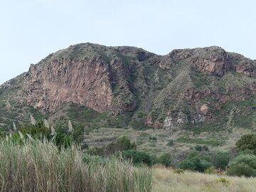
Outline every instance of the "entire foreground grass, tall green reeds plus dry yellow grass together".
[[0, 191], [251, 192], [256, 178], [136, 167], [90, 156], [76, 146], [7, 137], [0, 145]]

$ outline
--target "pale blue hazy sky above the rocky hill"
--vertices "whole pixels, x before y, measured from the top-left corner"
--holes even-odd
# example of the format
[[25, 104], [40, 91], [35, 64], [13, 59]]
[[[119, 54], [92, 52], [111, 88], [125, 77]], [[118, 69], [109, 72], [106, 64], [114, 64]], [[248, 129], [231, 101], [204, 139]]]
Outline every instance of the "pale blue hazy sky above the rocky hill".
[[165, 55], [220, 46], [256, 59], [254, 0], [0, 0], [0, 84], [76, 43]]

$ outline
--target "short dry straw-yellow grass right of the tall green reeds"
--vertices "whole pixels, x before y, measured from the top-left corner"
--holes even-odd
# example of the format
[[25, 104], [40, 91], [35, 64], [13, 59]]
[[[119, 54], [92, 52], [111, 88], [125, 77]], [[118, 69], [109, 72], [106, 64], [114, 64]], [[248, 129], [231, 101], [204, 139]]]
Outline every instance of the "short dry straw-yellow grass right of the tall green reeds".
[[[220, 182], [220, 177], [228, 183]], [[224, 179], [223, 179], [224, 180]], [[157, 192], [255, 192], [256, 178], [218, 176], [185, 171], [175, 174], [171, 169], [154, 169], [153, 190]]]

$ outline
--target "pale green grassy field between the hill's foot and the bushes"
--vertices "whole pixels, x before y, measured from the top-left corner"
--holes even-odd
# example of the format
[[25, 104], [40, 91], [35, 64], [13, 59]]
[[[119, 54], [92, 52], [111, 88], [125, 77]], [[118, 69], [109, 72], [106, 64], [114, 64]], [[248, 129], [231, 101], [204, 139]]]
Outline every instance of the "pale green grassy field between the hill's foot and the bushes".
[[[136, 142], [137, 149], [148, 151], [152, 154], [170, 153], [181, 154], [190, 151], [197, 144], [206, 144], [210, 151], [225, 151], [233, 146], [242, 134], [249, 134], [250, 129], [233, 129], [232, 132], [224, 130], [223, 132], [193, 134], [189, 132], [177, 131], [175, 133], [166, 132], [164, 129], [114, 129], [100, 128], [94, 129], [86, 137], [89, 146], [106, 146], [120, 136], [127, 136], [132, 142]], [[221, 136], [220, 136], [221, 135]], [[155, 139], [150, 139], [154, 137]], [[168, 146], [170, 140], [174, 141], [173, 146]], [[218, 145], [220, 144], [220, 145]]]

